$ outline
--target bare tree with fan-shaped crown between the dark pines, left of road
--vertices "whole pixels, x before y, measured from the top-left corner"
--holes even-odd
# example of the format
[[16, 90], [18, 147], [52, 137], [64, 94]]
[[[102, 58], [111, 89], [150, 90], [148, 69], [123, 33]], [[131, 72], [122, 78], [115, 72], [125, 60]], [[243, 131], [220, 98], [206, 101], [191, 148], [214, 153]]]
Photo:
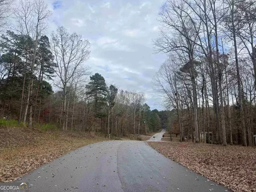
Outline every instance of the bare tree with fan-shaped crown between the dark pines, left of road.
[[63, 90], [63, 103], [61, 108], [61, 118], [63, 117], [62, 128], [65, 129], [67, 118], [67, 85], [79, 70], [84, 61], [90, 57], [90, 42], [77, 35], [69, 34], [63, 26], [58, 27], [56, 32], [52, 32], [52, 52], [58, 67], [55, 71], [59, 80], [58, 85]]

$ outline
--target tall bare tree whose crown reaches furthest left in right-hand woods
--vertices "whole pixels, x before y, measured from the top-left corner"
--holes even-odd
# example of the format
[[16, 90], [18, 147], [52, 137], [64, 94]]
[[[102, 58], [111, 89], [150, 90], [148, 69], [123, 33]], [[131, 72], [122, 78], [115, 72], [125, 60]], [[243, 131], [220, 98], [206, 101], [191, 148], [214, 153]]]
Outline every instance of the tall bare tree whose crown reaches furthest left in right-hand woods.
[[[163, 24], [160, 30], [160, 38], [154, 43], [157, 51], [178, 53], [183, 66], [187, 66], [192, 82], [194, 127], [196, 142], [198, 139], [198, 106], [196, 91], [196, 71], [195, 71], [195, 49], [198, 41], [198, 31], [194, 21], [185, 11], [189, 6], [183, 1], [168, 0], [160, 12], [160, 22]], [[200, 23], [199, 23], [200, 25]]]

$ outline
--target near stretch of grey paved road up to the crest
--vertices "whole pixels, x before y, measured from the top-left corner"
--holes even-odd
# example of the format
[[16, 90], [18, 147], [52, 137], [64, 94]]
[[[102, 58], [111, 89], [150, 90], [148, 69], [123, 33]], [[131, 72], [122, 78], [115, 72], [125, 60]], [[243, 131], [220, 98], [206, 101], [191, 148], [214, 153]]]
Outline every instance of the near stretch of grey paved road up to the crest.
[[224, 192], [143, 141], [105, 141], [70, 152], [22, 177], [32, 192]]

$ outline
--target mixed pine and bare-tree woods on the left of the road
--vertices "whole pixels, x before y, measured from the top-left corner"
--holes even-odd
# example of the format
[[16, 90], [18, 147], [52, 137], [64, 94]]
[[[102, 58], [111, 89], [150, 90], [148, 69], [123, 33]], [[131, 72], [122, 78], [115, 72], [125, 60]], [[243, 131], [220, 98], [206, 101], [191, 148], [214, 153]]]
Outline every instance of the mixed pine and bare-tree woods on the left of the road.
[[[63, 26], [47, 34], [51, 12], [42, 0], [0, 1], [0, 117], [20, 125], [100, 131], [109, 137], [161, 128], [145, 94], [107, 85], [91, 74], [90, 42]], [[12, 23], [8, 21], [13, 17]]]

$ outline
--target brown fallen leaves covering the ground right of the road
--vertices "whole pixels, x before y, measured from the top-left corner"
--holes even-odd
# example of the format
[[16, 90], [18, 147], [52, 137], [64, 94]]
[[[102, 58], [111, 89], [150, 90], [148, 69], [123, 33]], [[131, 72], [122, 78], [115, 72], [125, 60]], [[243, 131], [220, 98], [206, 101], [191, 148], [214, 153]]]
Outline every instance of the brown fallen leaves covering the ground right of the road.
[[204, 143], [148, 144], [166, 157], [234, 192], [256, 192], [256, 148]]

